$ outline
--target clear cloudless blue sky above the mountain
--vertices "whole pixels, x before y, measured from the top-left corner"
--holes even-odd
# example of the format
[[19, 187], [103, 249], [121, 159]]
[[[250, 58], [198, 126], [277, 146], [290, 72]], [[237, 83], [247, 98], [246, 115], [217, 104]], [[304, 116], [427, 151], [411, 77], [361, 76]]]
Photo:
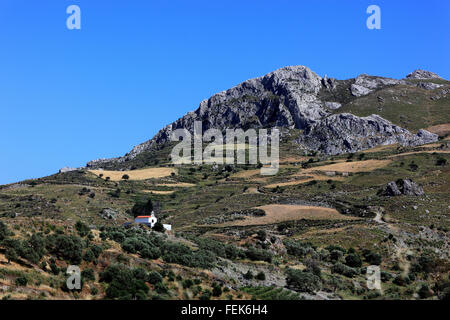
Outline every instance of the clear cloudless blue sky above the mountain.
[[[68, 30], [66, 8], [81, 8]], [[366, 8], [381, 8], [381, 30]], [[286, 65], [450, 79], [450, 2], [2, 0], [0, 184], [120, 156], [201, 100]]]

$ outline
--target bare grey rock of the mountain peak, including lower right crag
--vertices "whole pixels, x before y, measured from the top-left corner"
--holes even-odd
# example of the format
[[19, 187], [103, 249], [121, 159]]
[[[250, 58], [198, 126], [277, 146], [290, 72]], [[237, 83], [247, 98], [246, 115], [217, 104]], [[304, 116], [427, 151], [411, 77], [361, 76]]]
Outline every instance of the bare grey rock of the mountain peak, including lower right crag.
[[[408, 77], [439, 76], [416, 70]], [[425, 130], [411, 134], [377, 115], [363, 118], [349, 113], [332, 114], [342, 106], [341, 101], [336, 100], [339, 90], [347, 90], [357, 99], [397, 84], [407, 84], [407, 81], [367, 74], [355, 79], [336, 80], [327, 76], [321, 78], [305, 66], [283, 67], [203, 100], [195, 111], [164, 127], [151, 140], [134, 147], [124, 157], [94, 160], [88, 166], [123, 163], [143, 152], [159, 149], [170, 141], [173, 130], [184, 128], [193, 132], [195, 121], [202, 123], [203, 130], [300, 129], [304, 130], [298, 140], [300, 147], [327, 154], [356, 152], [380, 144], [417, 145], [436, 141], [437, 136]], [[327, 96], [319, 98], [323, 92], [327, 92]]]

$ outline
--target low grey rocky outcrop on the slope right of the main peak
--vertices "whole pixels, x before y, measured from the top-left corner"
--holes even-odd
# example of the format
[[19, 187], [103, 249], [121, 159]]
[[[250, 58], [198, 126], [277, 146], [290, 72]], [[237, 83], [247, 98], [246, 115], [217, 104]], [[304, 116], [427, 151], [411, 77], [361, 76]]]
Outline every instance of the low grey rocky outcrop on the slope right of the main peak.
[[298, 143], [309, 150], [336, 155], [394, 143], [415, 146], [437, 139], [437, 135], [426, 130], [412, 134], [378, 115], [357, 117], [350, 113], [341, 113], [308, 127]]

